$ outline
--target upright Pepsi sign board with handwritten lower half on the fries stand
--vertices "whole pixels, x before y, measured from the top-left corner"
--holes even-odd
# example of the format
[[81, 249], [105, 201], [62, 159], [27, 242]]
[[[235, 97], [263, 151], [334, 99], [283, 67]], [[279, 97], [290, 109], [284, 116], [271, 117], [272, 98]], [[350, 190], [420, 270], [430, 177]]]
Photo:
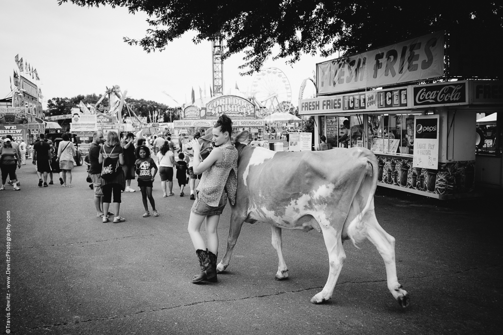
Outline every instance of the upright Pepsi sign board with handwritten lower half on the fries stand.
[[414, 118], [414, 157], [412, 167], [437, 170], [438, 163], [439, 116], [416, 116]]

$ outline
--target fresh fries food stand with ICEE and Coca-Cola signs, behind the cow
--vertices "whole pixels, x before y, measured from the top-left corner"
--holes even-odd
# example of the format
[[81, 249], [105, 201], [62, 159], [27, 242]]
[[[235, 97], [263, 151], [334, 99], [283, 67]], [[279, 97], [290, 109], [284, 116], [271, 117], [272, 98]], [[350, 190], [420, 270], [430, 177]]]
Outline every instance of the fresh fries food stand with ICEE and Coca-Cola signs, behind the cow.
[[[431, 41], [434, 38], [442, 50], [433, 48]], [[358, 64], [358, 59], [363, 57], [379, 63], [379, 57], [393, 54], [392, 50], [404, 50], [404, 46], [410, 49], [410, 45], [428, 43], [432, 49], [430, 53], [419, 49], [416, 51], [417, 57], [411, 60], [428, 65], [430, 63], [424, 61], [431, 58], [432, 67], [437, 68], [444, 59], [442, 34], [404, 41], [400, 45], [379, 49], [377, 53], [370, 51], [350, 56], [344, 60], [344, 64]], [[353, 62], [355, 58], [357, 61]], [[501, 187], [501, 134], [496, 140], [499, 154], [492, 157], [492, 172], [476, 169], [479, 164], [475, 154], [475, 137], [476, 114], [482, 110], [497, 112], [503, 108], [502, 83], [493, 80], [460, 80], [400, 85], [403, 81], [400, 76], [391, 78], [391, 75], [384, 75], [386, 70], [388, 74], [391, 73], [388, 61], [383, 59], [386, 65], [381, 63], [382, 67], [379, 64], [377, 68], [361, 67], [361, 76], [357, 74], [363, 80], [355, 85], [353, 76], [350, 85], [353, 89], [362, 90], [352, 93], [339, 92], [344, 87], [330, 87], [330, 82], [340, 82], [339, 77], [343, 78], [341, 86], [346, 84], [344, 78], [354, 75], [354, 72], [349, 72], [350, 66], [345, 74], [341, 74], [343, 67], [338, 67], [341, 59], [328, 62], [331, 67], [328, 70], [326, 62], [317, 64], [318, 96], [299, 103], [300, 115], [315, 117], [315, 134], [318, 135], [315, 136], [315, 146], [319, 143], [319, 136], [325, 135], [334, 147], [365, 147], [372, 150], [378, 159], [378, 185], [405, 192], [439, 199], [474, 196], [475, 175], [488, 173], [494, 178], [494, 184]], [[417, 64], [408, 64], [408, 68], [413, 69], [413, 65]], [[378, 89], [366, 86], [375, 79], [374, 71], [377, 71], [376, 78], [383, 76], [381, 81], [375, 82], [376, 85], [380, 84]], [[411, 78], [421, 81], [442, 75], [443, 71], [423, 71], [405, 78], [405, 81]], [[365, 80], [366, 76], [370, 80]], [[384, 84], [395, 87], [386, 88]]]

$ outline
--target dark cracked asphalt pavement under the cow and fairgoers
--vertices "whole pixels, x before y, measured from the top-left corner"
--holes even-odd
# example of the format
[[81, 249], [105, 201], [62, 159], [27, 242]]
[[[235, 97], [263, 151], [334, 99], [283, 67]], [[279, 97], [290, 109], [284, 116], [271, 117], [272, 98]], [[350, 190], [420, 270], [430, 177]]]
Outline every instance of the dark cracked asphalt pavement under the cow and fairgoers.
[[[57, 178], [38, 187], [31, 160], [18, 176], [21, 191], [0, 192], [2, 254], [10, 242], [11, 255], [2, 262], [3, 333], [499, 334], [503, 326], [500, 195], [439, 201], [378, 189], [376, 216], [396, 239], [398, 279], [411, 298], [402, 309], [368, 241], [360, 249], [345, 243], [344, 268], [321, 305], [309, 302], [328, 276], [315, 231], [283, 231], [290, 278], [276, 281], [271, 229], [244, 224], [218, 283], [194, 285], [190, 278], [200, 270], [187, 233], [192, 201], [179, 196], [177, 183], [176, 195], [163, 198], [155, 180], [158, 217], [142, 217], [137, 191], [122, 195], [125, 222], [103, 224], [85, 167], [73, 170], [72, 188]], [[219, 259], [229, 219], [227, 206]]]

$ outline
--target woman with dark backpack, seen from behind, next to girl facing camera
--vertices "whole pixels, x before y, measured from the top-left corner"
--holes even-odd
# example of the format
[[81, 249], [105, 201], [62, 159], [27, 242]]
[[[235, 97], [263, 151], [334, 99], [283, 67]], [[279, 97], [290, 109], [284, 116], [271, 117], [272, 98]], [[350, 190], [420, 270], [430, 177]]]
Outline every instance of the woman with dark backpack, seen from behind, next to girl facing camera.
[[[103, 191], [103, 212], [108, 213], [113, 193], [115, 213], [114, 224], [124, 222], [126, 219], [119, 215], [122, 184], [123, 182], [125, 183], [125, 176], [121, 166], [124, 165], [124, 151], [121, 147], [119, 135], [117, 135], [116, 132], [111, 131], [108, 133], [107, 141], [100, 149], [98, 161], [102, 164], [101, 183]], [[107, 215], [104, 215], [103, 223], [108, 221]]]

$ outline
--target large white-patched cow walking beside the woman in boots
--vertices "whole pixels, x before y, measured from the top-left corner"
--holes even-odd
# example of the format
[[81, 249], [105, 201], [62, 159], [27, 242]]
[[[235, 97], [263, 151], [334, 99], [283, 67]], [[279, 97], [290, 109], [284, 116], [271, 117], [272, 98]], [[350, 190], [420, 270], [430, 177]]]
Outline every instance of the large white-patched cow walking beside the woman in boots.
[[[211, 128], [206, 135], [210, 135]], [[237, 193], [231, 204], [227, 250], [217, 266], [223, 272], [244, 222], [271, 225], [272, 245], [278, 253], [277, 280], [288, 278], [283, 258], [281, 230], [323, 234], [328, 252], [329, 272], [323, 290], [311, 298], [322, 303], [332, 296], [346, 259], [343, 242], [357, 244], [367, 238], [384, 260], [388, 289], [402, 307], [409, 297], [398, 283], [395, 239], [386, 233], [375, 216], [377, 159], [365, 148], [334, 148], [325, 151], [275, 152], [242, 144], [244, 131], [233, 137], [239, 153]], [[200, 140], [201, 152], [211, 150], [211, 142]]]

